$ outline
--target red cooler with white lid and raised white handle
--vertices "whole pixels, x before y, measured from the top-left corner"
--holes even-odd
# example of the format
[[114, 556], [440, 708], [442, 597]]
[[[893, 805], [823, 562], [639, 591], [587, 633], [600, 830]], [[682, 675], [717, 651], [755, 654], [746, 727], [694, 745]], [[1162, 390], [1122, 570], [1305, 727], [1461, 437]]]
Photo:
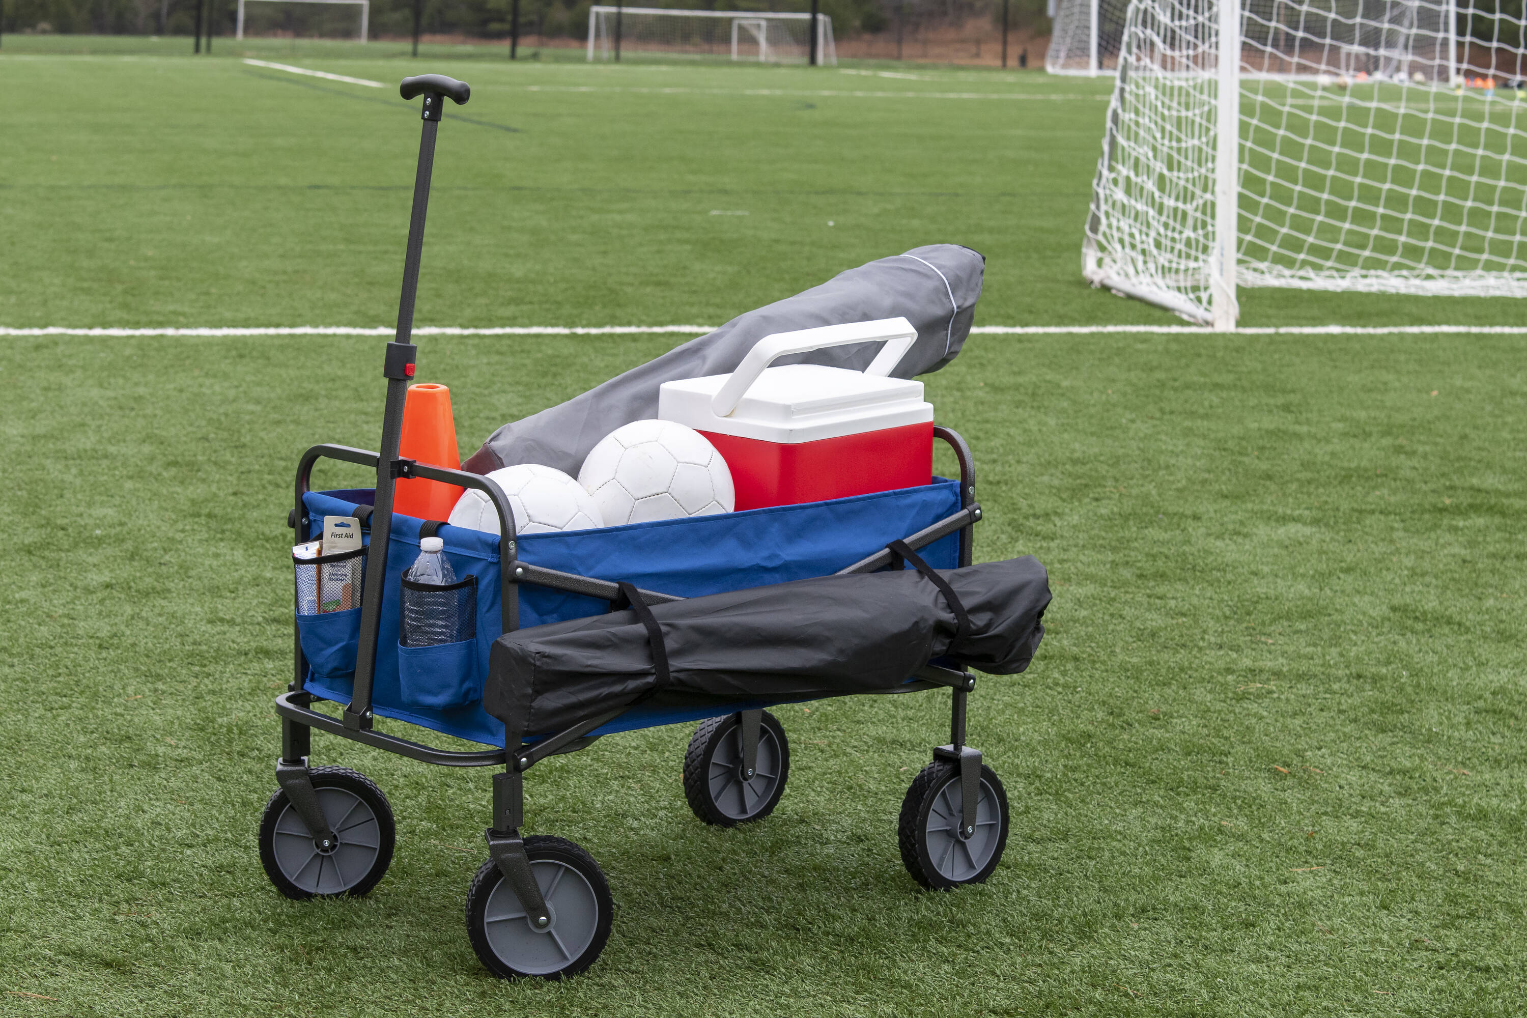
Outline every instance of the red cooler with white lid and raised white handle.
[[[704, 435], [731, 469], [739, 510], [910, 488], [933, 479], [933, 406], [890, 371], [912, 322], [823, 325], [765, 336], [731, 374], [664, 382], [658, 417]], [[864, 371], [782, 365], [825, 346], [884, 342]]]

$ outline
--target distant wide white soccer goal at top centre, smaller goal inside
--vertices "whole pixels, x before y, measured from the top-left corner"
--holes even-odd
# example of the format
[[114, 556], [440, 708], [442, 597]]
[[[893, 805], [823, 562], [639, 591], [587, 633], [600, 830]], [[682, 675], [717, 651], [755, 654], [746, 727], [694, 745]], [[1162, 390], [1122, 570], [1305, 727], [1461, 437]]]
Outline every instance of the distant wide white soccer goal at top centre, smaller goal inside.
[[621, 50], [730, 56], [764, 64], [837, 64], [832, 18], [765, 11], [667, 11], [594, 6], [588, 12], [588, 58], [620, 60]]

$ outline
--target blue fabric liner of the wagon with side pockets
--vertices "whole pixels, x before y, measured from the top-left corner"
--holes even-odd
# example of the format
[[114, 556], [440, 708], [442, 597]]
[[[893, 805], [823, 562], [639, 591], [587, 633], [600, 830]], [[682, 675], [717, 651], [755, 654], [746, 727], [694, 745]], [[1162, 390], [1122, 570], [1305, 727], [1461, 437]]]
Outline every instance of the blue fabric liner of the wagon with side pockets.
[[[302, 502], [312, 539], [321, 534], [324, 516], [350, 516], [357, 507], [373, 504], [373, 491], [308, 491]], [[828, 502], [519, 534], [518, 560], [676, 597], [701, 597], [829, 575], [959, 508], [959, 482], [938, 478], [924, 487]], [[371, 710], [447, 736], [502, 746], [504, 725], [481, 704], [489, 649], [502, 635], [499, 537], [449, 525], [437, 531], [457, 577], [476, 578], [476, 639], [444, 647], [400, 647], [400, 581], [418, 557], [423, 525], [425, 520], [412, 516], [392, 516]], [[959, 533], [927, 545], [921, 554], [938, 569], [953, 569], [959, 565]], [[608, 610], [609, 601], [603, 598], [531, 583], [519, 588], [521, 629]], [[304, 685], [310, 693], [350, 701], [359, 626], [359, 609], [298, 617], [308, 659]], [[635, 707], [591, 734], [699, 720], [750, 707], [753, 704], [742, 702], [724, 708]]]

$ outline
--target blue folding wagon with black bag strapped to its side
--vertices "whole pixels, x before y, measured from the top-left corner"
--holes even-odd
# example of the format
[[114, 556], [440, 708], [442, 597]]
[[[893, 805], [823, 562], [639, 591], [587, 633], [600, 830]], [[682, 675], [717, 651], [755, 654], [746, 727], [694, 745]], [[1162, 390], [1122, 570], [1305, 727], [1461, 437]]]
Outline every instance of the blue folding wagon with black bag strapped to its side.
[[[469, 89], [428, 75], [406, 78], [402, 95], [423, 96], [425, 124], [397, 339], [388, 343], [383, 362], [382, 446], [379, 452], [331, 444], [308, 449], [298, 466], [289, 517], [299, 540], [310, 540], [322, 533], [325, 516], [354, 516], [365, 530], [365, 545], [295, 560], [295, 668], [289, 691], [276, 697], [279, 791], [260, 826], [261, 862], [272, 884], [295, 899], [365, 894], [392, 856], [395, 827], [386, 797], [356, 771], [312, 766], [315, 728], [425, 763], [498, 768], [486, 832], [489, 859], [467, 891], [472, 946], [499, 977], [576, 974], [592, 965], [609, 937], [609, 887], [582, 847], [521, 833], [524, 777], [536, 763], [608, 734], [698, 720], [683, 762], [690, 807], [707, 824], [751, 823], [770, 815], [789, 775], [789, 745], [768, 707], [855, 691], [931, 688], [951, 691], [950, 739], [933, 749], [933, 762], [907, 791], [898, 827], [901, 858], [928, 888], [985, 881], [1006, 844], [1008, 800], [982, 754], [965, 745], [967, 701], [976, 681], [957, 661], [1022, 670], [1043, 632], [1038, 617], [1049, 595], [1043, 569], [1032, 559], [1015, 560], [1017, 580], [1011, 568], [994, 568], [1014, 563], [971, 566], [971, 537], [982, 511], [967, 444], [935, 427], [935, 437], [954, 452], [959, 481], [935, 478], [922, 487], [828, 502], [591, 531], [516, 533], [508, 499], [487, 476], [399, 456], [417, 351], [409, 339], [435, 131], [444, 99], [463, 104]], [[374, 469], [376, 487], [315, 491], [310, 478], [319, 459]], [[481, 491], [498, 513], [499, 533], [394, 513], [394, 485], [405, 478]], [[461, 577], [450, 589], [470, 638], [406, 647], [394, 636], [402, 574], [418, 554], [420, 540], [431, 536], [444, 542]], [[1020, 588], [1028, 598], [1022, 618], [1008, 610], [1015, 597], [1011, 592]], [[832, 604], [860, 595], [867, 598], [861, 617], [880, 621], [880, 636], [873, 624], [857, 629], [823, 620], [820, 612], [806, 617], [812, 597]], [[728, 630], [725, 639], [710, 643], [695, 638], [722, 601], [728, 618], [736, 615], [742, 618], [738, 626], [753, 629]], [[576, 647], [562, 658], [557, 647], [586, 635], [576, 630], [606, 623], [611, 629], [597, 635], [600, 646], [618, 647], [625, 638], [629, 659], [608, 688], [585, 696], [548, 681], [538, 690], [525, 678], [525, 661], [547, 662], [545, 675], [553, 678], [583, 667]], [[899, 638], [902, 630], [921, 633], [921, 643], [887, 638]], [[802, 644], [793, 653], [806, 661], [783, 685], [750, 678], [754, 673], [745, 661], [727, 661], [728, 653], [745, 658], [748, 639], [767, 644], [774, 632], [780, 644]], [[814, 646], [806, 638], [811, 633], [834, 646]], [[892, 643], [899, 649], [887, 650]], [[1002, 649], [991, 650], [997, 643]], [[705, 665], [709, 672], [693, 665], [696, 646], [699, 656], [721, 664]], [[834, 678], [834, 668], [843, 670], [841, 659], [855, 655], [873, 656], [878, 675], [893, 681], [860, 678], [855, 685]], [[985, 664], [988, 659], [996, 664]], [[1002, 661], [1019, 664], [1002, 667]], [[860, 667], [857, 675], [869, 670]], [[719, 678], [696, 685], [695, 675]], [[337, 716], [318, 710], [322, 702], [341, 705]], [[376, 716], [492, 748], [438, 749], [377, 731]], [[536, 717], [560, 720], [538, 725]]]

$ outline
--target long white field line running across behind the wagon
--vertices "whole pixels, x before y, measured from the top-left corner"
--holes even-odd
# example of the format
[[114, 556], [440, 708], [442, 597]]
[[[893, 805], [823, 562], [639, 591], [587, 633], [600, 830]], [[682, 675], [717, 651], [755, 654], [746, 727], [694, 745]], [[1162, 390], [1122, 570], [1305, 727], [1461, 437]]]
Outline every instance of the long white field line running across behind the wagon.
[[[460, 325], [420, 325], [414, 336], [634, 336], [643, 333], [684, 333], [704, 336], [718, 325], [496, 325], [470, 328]], [[391, 325], [249, 325], [200, 328], [70, 328], [47, 325], [38, 328], [8, 328], [0, 336], [392, 336]], [[1199, 325], [977, 325], [970, 330], [980, 336], [1527, 336], [1527, 325], [1269, 325], [1214, 333]]]

